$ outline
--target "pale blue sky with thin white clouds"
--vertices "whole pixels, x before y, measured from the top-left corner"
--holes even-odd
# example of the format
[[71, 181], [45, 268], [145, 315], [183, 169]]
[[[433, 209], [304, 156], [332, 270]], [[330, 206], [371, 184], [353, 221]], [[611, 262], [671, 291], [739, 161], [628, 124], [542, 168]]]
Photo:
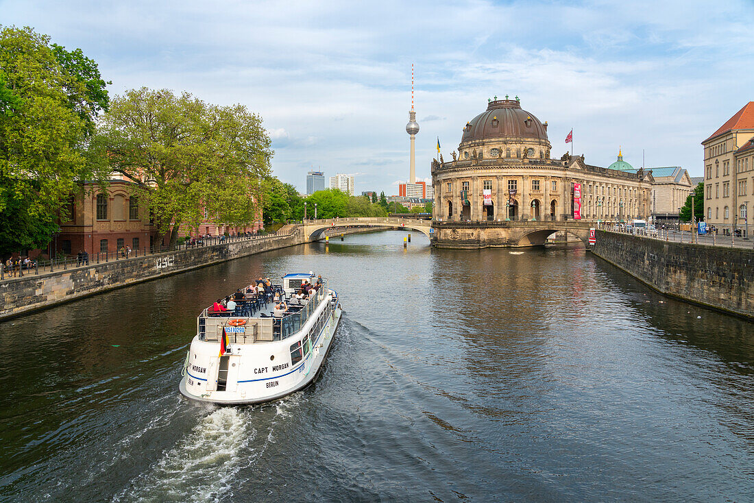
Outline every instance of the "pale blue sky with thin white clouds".
[[415, 65], [416, 175], [430, 180], [494, 96], [548, 123], [553, 157], [681, 166], [754, 100], [754, 2], [35, 2], [0, 0], [99, 63], [109, 92], [189, 91], [264, 119], [274, 174], [299, 191], [314, 168], [356, 192], [397, 194], [409, 175]]

